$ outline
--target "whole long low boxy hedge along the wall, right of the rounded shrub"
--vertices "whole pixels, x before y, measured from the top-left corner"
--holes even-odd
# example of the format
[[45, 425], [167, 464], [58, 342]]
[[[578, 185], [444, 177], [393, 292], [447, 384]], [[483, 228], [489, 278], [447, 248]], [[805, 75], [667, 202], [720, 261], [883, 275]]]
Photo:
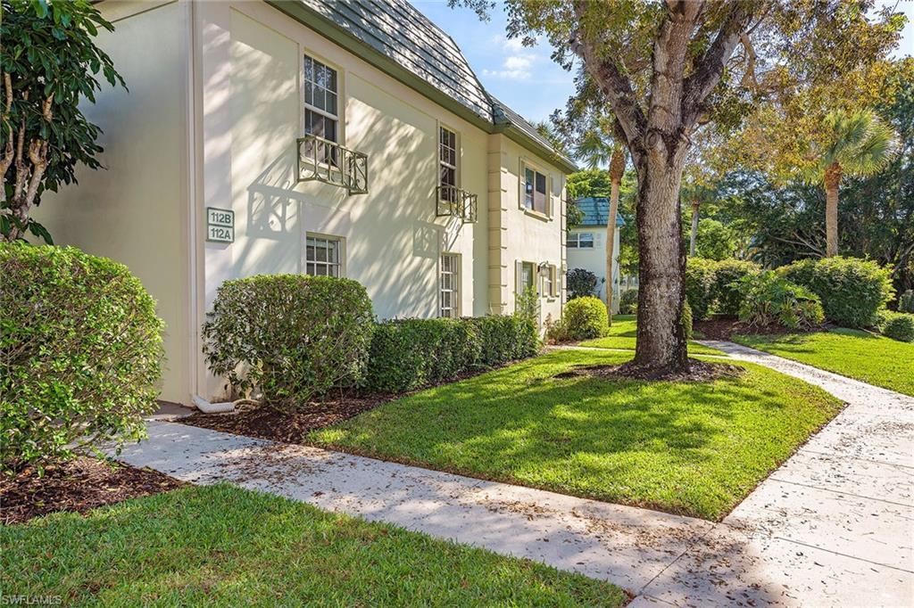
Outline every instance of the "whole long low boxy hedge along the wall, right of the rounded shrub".
[[405, 393], [537, 353], [535, 323], [520, 316], [404, 319], [377, 324], [362, 388]]

